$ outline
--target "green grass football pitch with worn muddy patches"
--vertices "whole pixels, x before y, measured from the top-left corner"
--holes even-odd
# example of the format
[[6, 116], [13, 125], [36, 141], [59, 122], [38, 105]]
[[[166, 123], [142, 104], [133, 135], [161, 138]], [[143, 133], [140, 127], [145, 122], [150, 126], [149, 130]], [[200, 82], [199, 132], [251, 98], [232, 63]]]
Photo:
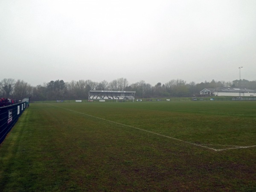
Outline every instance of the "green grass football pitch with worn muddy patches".
[[31, 104], [1, 191], [256, 191], [256, 102]]

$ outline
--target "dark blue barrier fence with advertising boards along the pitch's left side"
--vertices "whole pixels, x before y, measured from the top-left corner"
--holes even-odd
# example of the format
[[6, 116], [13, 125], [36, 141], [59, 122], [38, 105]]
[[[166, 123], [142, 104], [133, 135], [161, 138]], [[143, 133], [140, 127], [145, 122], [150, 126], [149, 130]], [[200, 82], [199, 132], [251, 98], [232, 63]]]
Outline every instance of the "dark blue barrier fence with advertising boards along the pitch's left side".
[[6, 135], [11, 131], [20, 115], [25, 111], [25, 108], [26, 102], [0, 108], [0, 143], [3, 142]]

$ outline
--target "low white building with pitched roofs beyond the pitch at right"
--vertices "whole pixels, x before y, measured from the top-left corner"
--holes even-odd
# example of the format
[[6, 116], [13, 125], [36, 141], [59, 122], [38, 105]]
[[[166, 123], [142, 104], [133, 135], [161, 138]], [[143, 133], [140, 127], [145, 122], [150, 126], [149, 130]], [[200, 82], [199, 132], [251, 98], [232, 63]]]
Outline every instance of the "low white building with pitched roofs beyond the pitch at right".
[[217, 87], [215, 89], [206, 88], [200, 91], [204, 96], [256, 96], [256, 90], [236, 88], [236, 87]]

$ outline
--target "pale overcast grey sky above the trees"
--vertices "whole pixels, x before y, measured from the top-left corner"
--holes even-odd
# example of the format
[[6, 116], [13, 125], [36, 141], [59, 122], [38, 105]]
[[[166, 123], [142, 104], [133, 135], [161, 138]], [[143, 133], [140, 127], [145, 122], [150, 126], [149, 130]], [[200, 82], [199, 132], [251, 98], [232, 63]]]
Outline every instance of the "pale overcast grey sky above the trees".
[[0, 0], [0, 80], [256, 80], [256, 0]]

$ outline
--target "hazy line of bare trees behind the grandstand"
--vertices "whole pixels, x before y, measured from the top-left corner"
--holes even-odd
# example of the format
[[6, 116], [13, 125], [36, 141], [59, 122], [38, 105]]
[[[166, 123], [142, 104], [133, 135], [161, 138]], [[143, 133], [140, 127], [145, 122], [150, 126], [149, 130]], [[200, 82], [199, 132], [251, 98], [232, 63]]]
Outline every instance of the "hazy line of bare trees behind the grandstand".
[[52, 80], [48, 83], [31, 86], [23, 80], [3, 79], [0, 81], [0, 97], [16, 100], [30, 97], [33, 101], [88, 99], [90, 90], [136, 91], [137, 98], [191, 97], [198, 96], [204, 88], [216, 87], [243, 87], [256, 90], [256, 81], [246, 79], [232, 82], [212, 80], [196, 84], [194, 81], [187, 83], [182, 79], [172, 79], [164, 84], [158, 82], [151, 85], [143, 80], [129, 84], [126, 78], [119, 78], [110, 82], [105, 80], [101, 82]]

